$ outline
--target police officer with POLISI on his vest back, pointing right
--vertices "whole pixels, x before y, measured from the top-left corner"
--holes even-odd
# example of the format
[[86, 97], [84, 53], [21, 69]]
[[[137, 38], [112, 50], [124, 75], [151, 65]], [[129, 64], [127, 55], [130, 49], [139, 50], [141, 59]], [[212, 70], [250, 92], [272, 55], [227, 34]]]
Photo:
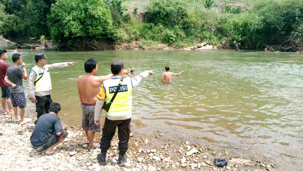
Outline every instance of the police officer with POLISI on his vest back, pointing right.
[[[101, 165], [106, 165], [106, 153], [110, 147], [113, 136], [115, 135], [116, 127], [118, 127], [119, 137], [119, 166], [124, 166], [126, 162], [126, 151], [128, 149], [128, 140], [130, 134], [130, 123], [132, 117], [132, 91], [141, 80], [148, 75], [152, 75], [152, 70], [147, 70], [138, 74], [135, 77], [125, 77], [124, 65], [122, 61], [113, 61], [111, 63], [111, 70], [113, 77], [110, 80], [105, 80], [97, 95], [97, 103], [95, 107], [95, 124], [100, 124], [101, 109], [105, 104], [110, 103], [115, 91], [118, 93], [114, 98], [109, 110], [107, 111], [104, 126], [102, 129], [101, 138], [101, 154], [98, 154], [97, 159]], [[121, 86], [118, 86], [120, 83]], [[119, 87], [119, 88], [118, 88]]]

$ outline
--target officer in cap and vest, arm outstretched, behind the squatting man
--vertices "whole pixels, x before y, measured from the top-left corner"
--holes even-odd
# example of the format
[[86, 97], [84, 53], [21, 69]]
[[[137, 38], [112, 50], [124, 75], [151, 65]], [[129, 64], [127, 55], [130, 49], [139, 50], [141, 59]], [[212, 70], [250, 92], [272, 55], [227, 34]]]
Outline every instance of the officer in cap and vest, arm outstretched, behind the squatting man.
[[35, 55], [36, 65], [29, 71], [28, 97], [32, 103], [36, 104], [37, 118], [49, 112], [49, 105], [52, 103], [51, 76], [49, 70], [55, 68], [68, 67], [77, 62], [53, 63], [47, 65], [47, 57], [44, 53]]

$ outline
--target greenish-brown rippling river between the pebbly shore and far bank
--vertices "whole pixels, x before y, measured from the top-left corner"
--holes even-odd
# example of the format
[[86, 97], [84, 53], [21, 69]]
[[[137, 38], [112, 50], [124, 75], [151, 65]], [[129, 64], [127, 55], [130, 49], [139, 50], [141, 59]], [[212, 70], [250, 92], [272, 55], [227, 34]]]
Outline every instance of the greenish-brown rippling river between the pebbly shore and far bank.
[[[34, 54], [20, 54], [30, 70]], [[44, 53], [44, 52], [42, 52]], [[303, 54], [261, 51], [46, 51], [48, 63], [78, 62], [52, 70], [52, 99], [62, 104], [64, 123], [81, 127], [75, 80], [84, 62], [96, 59], [98, 75], [110, 74], [112, 60], [123, 60], [136, 74], [154, 75], [134, 88], [135, 132], [154, 133], [236, 148], [231, 156], [264, 156], [278, 170], [303, 170]], [[9, 56], [11, 56], [9, 52]], [[11, 64], [11, 61], [8, 60]], [[164, 67], [184, 74], [160, 83]], [[26, 93], [28, 81], [24, 81]], [[34, 115], [28, 101], [27, 111]], [[102, 117], [104, 119], [104, 115]]]

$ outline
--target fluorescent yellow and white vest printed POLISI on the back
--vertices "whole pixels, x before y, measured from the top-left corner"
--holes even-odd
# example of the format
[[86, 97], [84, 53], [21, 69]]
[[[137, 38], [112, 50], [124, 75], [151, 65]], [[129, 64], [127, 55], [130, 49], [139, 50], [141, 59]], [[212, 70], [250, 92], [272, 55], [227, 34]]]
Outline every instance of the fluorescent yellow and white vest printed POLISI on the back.
[[[105, 103], [109, 103], [117, 90], [119, 78], [113, 78], [103, 82], [105, 88]], [[125, 77], [117, 96], [115, 97], [107, 115], [109, 116], [126, 116], [132, 114], [132, 81], [130, 77]]]

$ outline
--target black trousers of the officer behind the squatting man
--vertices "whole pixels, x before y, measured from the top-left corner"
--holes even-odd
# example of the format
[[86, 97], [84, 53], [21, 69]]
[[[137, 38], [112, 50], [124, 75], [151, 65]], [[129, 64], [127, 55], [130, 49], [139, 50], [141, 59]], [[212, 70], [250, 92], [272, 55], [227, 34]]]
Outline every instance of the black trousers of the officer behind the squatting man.
[[36, 112], [37, 118], [42, 116], [45, 113], [49, 113], [49, 105], [51, 105], [52, 97], [50, 94], [46, 96], [35, 96], [36, 97]]

